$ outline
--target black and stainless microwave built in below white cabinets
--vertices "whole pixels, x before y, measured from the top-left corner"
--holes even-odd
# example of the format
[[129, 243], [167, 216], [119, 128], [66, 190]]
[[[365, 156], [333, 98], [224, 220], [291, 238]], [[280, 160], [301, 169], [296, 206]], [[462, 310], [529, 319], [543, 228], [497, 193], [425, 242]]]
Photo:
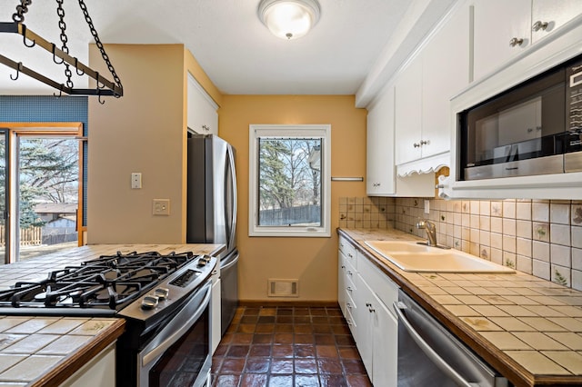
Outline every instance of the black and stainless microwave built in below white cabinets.
[[582, 171], [582, 55], [457, 114], [459, 180]]

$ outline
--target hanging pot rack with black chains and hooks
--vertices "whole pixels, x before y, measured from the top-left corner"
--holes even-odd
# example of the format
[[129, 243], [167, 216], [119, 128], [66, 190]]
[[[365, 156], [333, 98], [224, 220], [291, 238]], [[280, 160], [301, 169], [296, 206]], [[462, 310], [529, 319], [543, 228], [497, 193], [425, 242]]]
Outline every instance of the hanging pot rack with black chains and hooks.
[[[64, 15], [65, 11], [62, 8], [63, 0], [56, 0], [58, 4], [57, 14], [60, 16], [59, 27], [61, 29], [61, 41], [62, 46], [61, 48], [57, 47], [54, 43], [47, 41], [40, 35], [35, 34], [35, 32], [31, 31], [26, 25], [23, 23], [25, 21], [25, 13], [28, 11], [28, 6], [32, 4], [32, 0], [21, 0], [20, 5], [16, 6], [16, 13], [12, 16], [13, 22], [0, 22], [0, 33], [8, 33], [8, 34], [18, 34], [22, 35], [23, 37], [23, 45], [28, 48], [35, 47], [38, 45], [39, 47], [45, 49], [47, 52], [53, 55], [53, 61], [57, 65], [65, 65], [65, 75], [67, 77], [67, 81], [65, 83], [59, 83], [44, 74], [40, 74], [35, 70], [31, 69], [23, 65], [22, 62], [16, 62], [5, 55], [0, 54], [0, 63], [6, 65], [8, 67], [13, 68], [16, 73], [15, 75], [10, 75], [10, 78], [15, 81], [18, 79], [18, 76], [22, 74], [26, 74], [37, 81], [42, 82], [43, 84], [47, 84], [56, 90], [59, 91], [57, 96], [61, 96], [62, 94], [69, 94], [69, 95], [96, 95], [99, 98], [99, 102], [104, 104], [105, 102], [101, 100], [102, 96], [115, 96], [121, 97], [124, 94], [124, 89], [121, 84], [121, 80], [115, 74], [115, 69], [109, 60], [108, 55], [105, 53], [105, 47], [101, 43], [99, 36], [95, 30], [95, 26], [93, 25], [93, 21], [91, 16], [89, 15], [84, 0], [78, 0], [79, 6], [85, 15], [85, 22], [89, 25], [89, 29], [91, 30], [91, 34], [95, 38], [95, 44], [99, 49], [109, 72], [112, 74], [114, 78], [114, 82], [108, 80], [99, 72], [93, 70], [87, 65], [81, 63], [75, 56], [68, 54], [68, 47], [66, 46], [66, 42], [68, 40], [65, 34], [65, 22], [64, 22]], [[30, 44], [26, 42], [32, 42]], [[57, 60], [60, 60], [58, 61]], [[70, 67], [75, 68], [75, 72], [77, 75], [81, 76], [86, 74], [87, 76], [91, 77], [96, 82], [95, 88], [75, 88], [73, 81], [71, 80], [71, 71]]]

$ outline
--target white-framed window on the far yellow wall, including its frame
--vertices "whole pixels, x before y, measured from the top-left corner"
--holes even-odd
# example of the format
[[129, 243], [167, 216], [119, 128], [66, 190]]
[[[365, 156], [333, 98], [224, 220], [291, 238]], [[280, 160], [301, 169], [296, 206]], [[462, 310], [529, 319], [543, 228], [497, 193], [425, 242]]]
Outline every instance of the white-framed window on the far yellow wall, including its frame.
[[249, 235], [330, 236], [331, 126], [250, 125]]

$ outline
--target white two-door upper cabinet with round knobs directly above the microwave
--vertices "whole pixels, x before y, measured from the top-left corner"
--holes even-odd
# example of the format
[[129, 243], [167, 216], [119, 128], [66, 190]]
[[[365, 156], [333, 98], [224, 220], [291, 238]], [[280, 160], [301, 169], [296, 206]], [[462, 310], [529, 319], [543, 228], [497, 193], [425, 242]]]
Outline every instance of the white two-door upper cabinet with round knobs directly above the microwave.
[[580, 0], [476, 0], [474, 79], [582, 13]]

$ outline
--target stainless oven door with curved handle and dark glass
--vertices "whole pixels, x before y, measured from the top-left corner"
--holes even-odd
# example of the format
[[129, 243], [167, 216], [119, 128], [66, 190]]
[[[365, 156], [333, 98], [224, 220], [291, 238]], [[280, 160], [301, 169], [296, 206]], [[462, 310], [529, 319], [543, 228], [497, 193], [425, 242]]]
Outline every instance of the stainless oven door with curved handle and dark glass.
[[212, 282], [192, 294], [184, 309], [138, 353], [141, 387], [202, 386], [212, 362], [210, 337]]

